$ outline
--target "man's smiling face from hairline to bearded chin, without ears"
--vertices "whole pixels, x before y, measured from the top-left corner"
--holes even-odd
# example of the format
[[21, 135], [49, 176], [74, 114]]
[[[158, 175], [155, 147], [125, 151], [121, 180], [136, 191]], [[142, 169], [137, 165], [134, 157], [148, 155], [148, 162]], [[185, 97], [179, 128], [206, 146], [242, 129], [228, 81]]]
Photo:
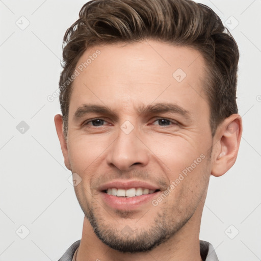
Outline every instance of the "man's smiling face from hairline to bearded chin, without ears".
[[194, 49], [157, 41], [88, 49], [76, 68], [90, 56], [70, 97], [65, 160], [81, 177], [75, 193], [103, 243], [149, 250], [200, 222], [213, 141], [205, 64]]

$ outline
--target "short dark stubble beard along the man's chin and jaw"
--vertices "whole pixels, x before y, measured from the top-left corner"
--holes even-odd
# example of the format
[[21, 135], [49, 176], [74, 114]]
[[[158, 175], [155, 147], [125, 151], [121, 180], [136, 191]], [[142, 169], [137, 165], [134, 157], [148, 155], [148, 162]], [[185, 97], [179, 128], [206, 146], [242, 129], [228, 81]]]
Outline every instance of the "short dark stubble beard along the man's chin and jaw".
[[[101, 242], [122, 253], [151, 251], [172, 238], [194, 214], [194, 211], [189, 211], [187, 216], [179, 218], [180, 211], [176, 210], [177, 214], [174, 215], [174, 213], [170, 213], [171, 211], [165, 210], [156, 214], [156, 217], [150, 222], [149, 228], [139, 229], [131, 228], [131, 225], [127, 224], [127, 219], [133, 215], [132, 211], [118, 210], [116, 211], [117, 215], [126, 220], [126, 225], [122, 229], [117, 229], [117, 226], [113, 227], [112, 223], [106, 222], [106, 219], [101, 217], [99, 213], [95, 213], [95, 208], [90, 206], [87, 200], [84, 206], [81, 203], [80, 206]], [[149, 211], [147, 215], [149, 215]], [[145, 216], [142, 218], [146, 218]]]

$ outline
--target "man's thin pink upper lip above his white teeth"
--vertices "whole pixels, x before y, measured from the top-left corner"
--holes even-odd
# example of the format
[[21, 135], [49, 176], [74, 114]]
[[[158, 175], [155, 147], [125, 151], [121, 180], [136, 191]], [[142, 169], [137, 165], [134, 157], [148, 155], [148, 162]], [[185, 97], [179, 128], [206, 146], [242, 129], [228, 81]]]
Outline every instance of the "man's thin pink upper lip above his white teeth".
[[132, 189], [132, 188], [160, 190], [159, 187], [156, 187], [154, 185], [149, 184], [148, 182], [140, 181], [140, 180], [114, 180], [101, 185], [99, 187], [99, 190], [103, 191], [109, 188], [124, 189], [124, 190]]

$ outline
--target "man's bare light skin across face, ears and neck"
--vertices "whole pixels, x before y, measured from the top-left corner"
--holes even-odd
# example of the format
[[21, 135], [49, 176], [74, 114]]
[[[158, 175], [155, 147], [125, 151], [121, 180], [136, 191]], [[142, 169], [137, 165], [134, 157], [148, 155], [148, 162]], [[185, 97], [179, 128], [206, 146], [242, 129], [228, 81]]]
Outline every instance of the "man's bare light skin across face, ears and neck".
[[[67, 142], [62, 116], [55, 116], [65, 165], [82, 178], [74, 187], [85, 213], [77, 261], [199, 261], [208, 181], [236, 161], [241, 117], [226, 118], [212, 137], [203, 92], [205, 62], [197, 50], [154, 40], [95, 46], [85, 51], [77, 66], [96, 49], [101, 54], [73, 82]], [[178, 68], [187, 74], [181, 82], [172, 76]], [[86, 103], [106, 106], [114, 115], [75, 118], [77, 108]], [[190, 118], [136, 110], [155, 103], [175, 103]], [[104, 121], [95, 126], [95, 118]], [[125, 121], [134, 127], [129, 134], [120, 128]], [[135, 210], [115, 210], [98, 191], [100, 185], [120, 178], [147, 181], [164, 192], [200, 155], [204, 159], [157, 206], [147, 202]], [[132, 232], [124, 235], [126, 226]]]

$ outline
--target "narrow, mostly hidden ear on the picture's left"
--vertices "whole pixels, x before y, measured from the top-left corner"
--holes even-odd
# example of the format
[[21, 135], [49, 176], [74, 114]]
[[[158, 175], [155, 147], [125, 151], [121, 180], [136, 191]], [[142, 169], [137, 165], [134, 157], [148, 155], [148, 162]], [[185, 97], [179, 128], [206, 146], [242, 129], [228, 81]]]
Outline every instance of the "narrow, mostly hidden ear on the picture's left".
[[68, 170], [71, 170], [71, 165], [68, 157], [67, 142], [63, 133], [63, 117], [61, 114], [57, 114], [55, 116], [55, 127], [63, 152], [64, 164]]

